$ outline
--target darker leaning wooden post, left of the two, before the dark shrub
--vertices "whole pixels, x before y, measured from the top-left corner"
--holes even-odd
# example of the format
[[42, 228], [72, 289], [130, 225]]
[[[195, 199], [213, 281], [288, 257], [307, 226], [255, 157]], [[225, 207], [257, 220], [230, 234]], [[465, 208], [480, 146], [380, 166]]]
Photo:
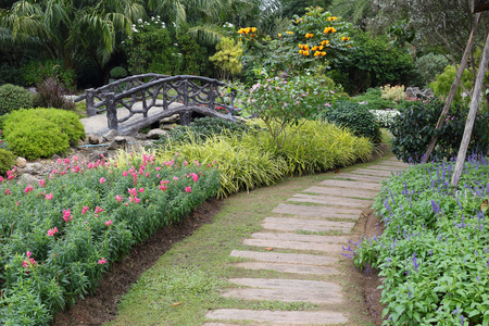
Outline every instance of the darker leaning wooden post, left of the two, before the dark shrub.
[[[443, 110], [441, 111], [440, 117], [438, 118], [438, 123], [436, 126], [436, 129], [441, 129], [441, 126], [443, 125], [444, 118], [447, 114], [450, 111], [450, 108], [452, 106], [453, 98], [455, 97], [456, 88], [459, 87], [460, 82], [462, 80], [462, 75], [464, 74], [465, 66], [467, 65], [468, 57], [472, 52], [472, 48], [474, 46], [475, 40], [475, 34], [477, 32], [477, 28], [480, 23], [480, 16], [481, 14], [478, 13], [476, 15], [474, 27], [472, 27], [471, 36], [468, 38], [467, 47], [465, 48], [464, 55], [462, 57], [462, 61], [459, 65], [459, 70], [456, 71], [455, 80], [453, 80], [452, 87], [450, 88], [450, 92], [444, 101]], [[431, 140], [428, 143], [428, 148], [426, 149], [426, 153], [423, 156], [423, 163], [428, 162], [429, 156], [431, 155], [432, 150], [435, 149], [435, 146], [437, 145], [438, 136], [435, 135], [431, 137]]]

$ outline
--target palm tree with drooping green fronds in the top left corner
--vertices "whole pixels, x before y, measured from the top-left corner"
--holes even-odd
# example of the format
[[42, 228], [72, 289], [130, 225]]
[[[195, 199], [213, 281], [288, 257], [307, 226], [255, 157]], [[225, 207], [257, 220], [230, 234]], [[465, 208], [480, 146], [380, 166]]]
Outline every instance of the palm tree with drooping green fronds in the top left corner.
[[39, 40], [45, 52], [75, 67], [79, 58], [93, 53], [102, 65], [114, 51], [117, 32], [146, 15], [140, 0], [20, 0], [0, 20], [17, 43]]

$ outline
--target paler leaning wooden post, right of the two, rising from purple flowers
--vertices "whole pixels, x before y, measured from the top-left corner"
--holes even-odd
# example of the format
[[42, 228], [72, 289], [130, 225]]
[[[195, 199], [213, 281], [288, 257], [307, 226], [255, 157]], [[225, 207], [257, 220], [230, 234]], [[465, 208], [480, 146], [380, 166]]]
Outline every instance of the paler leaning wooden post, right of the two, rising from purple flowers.
[[480, 59], [479, 71], [477, 72], [476, 85], [474, 87], [474, 95], [471, 101], [471, 110], [468, 111], [467, 122], [465, 123], [464, 137], [459, 149], [459, 155], [456, 156], [455, 171], [452, 176], [452, 186], [459, 184], [460, 176], [464, 168], [465, 156], [467, 154], [468, 143], [471, 142], [472, 129], [474, 128], [474, 121], [479, 108], [480, 92], [482, 89], [484, 77], [486, 76], [487, 65], [489, 64], [489, 35], [484, 46], [482, 59]]

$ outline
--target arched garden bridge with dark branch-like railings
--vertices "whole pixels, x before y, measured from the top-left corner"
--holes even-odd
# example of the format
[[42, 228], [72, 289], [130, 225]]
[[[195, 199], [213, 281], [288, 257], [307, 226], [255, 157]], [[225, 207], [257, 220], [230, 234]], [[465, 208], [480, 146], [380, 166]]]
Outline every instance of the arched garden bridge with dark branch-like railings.
[[[235, 88], [213, 78], [143, 74], [87, 89], [75, 102], [86, 100], [88, 117], [106, 113], [109, 129], [125, 123], [126, 130], [136, 131], [174, 114], [179, 114], [183, 125], [191, 122], [193, 113], [234, 121], [239, 112], [236, 96]], [[159, 109], [150, 112], [152, 108]], [[142, 118], [128, 123], [140, 114]]]

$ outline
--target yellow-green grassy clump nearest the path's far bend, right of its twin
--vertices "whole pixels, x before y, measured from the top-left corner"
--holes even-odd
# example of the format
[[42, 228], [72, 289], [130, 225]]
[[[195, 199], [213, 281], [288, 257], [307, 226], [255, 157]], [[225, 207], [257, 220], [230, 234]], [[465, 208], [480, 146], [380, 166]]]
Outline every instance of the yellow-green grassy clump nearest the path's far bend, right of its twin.
[[262, 135], [262, 146], [264, 152], [274, 152], [287, 162], [288, 174], [324, 172], [366, 161], [374, 149], [367, 138], [321, 121], [306, 121], [297, 133], [292, 128], [287, 131], [290, 135], [281, 149], [276, 149], [269, 134]]

